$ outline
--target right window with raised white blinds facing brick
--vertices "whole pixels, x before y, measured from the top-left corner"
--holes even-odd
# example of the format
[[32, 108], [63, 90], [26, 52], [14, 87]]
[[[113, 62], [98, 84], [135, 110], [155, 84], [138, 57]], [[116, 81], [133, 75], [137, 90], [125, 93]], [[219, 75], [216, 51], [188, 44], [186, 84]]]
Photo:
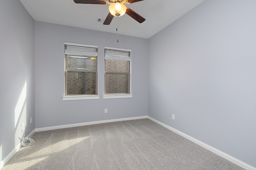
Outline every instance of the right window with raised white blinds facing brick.
[[105, 95], [131, 94], [130, 77], [131, 51], [105, 47]]

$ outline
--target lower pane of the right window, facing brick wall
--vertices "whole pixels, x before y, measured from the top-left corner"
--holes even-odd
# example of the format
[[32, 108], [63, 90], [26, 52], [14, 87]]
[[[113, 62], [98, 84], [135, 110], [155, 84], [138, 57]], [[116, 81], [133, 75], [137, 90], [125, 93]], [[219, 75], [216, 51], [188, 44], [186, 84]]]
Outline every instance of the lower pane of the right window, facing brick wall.
[[106, 72], [106, 94], [129, 93], [129, 73]]

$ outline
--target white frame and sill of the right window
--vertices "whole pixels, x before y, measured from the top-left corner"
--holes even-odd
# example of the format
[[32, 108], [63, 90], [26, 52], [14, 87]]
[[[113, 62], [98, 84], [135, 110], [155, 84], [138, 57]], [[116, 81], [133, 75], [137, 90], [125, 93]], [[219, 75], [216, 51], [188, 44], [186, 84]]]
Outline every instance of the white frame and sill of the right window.
[[[133, 97], [133, 94], [132, 94], [132, 50], [130, 50], [130, 49], [120, 49], [120, 48], [114, 48], [114, 47], [104, 47], [104, 51], [106, 49], [130, 52], [129, 59], [127, 59], [127, 57], [110, 57], [110, 56], [106, 56], [104, 54], [105, 55], [104, 63], [105, 63], [105, 59], [130, 61], [130, 85], [129, 85], [129, 88], [130, 88], [129, 92], [130, 93], [129, 94], [105, 94], [105, 90], [104, 90], [103, 99], [132, 98]], [[105, 64], [104, 64], [104, 71], [105, 71]], [[104, 79], [105, 79], [105, 74], [106, 73], [104, 73]], [[105, 89], [106, 88], [106, 80], [104, 80], [104, 82], [105, 82], [104, 83], [104, 89]]]

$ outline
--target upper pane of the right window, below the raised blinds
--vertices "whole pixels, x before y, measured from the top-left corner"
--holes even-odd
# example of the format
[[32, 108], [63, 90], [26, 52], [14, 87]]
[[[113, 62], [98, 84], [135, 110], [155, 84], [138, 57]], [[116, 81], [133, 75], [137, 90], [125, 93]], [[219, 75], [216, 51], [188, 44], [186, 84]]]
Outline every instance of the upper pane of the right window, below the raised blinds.
[[105, 59], [106, 72], [129, 72], [130, 61]]

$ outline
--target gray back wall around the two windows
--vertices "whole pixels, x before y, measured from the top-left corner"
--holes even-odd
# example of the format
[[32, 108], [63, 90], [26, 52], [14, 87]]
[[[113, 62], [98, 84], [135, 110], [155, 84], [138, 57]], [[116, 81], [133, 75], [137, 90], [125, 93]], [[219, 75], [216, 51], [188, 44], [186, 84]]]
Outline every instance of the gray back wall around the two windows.
[[[148, 114], [148, 39], [35, 22], [36, 128]], [[64, 42], [98, 45], [98, 100], [62, 101]], [[133, 98], [103, 99], [104, 47], [132, 50]], [[108, 113], [104, 113], [104, 109]]]

